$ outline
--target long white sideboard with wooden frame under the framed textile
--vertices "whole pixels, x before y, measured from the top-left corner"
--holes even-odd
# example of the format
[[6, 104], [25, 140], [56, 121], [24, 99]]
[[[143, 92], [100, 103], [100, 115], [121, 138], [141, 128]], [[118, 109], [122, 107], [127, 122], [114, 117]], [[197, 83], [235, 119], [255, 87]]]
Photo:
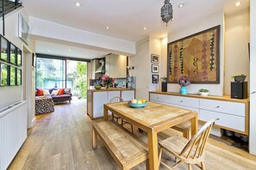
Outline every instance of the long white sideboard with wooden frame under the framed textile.
[[178, 106], [198, 112], [201, 122], [219, 118], [215, 126], [248, 135], [249, 100], [231, 99], [229, 96], [200, 96], [170, 92], [150, 92], [151, 101]]

